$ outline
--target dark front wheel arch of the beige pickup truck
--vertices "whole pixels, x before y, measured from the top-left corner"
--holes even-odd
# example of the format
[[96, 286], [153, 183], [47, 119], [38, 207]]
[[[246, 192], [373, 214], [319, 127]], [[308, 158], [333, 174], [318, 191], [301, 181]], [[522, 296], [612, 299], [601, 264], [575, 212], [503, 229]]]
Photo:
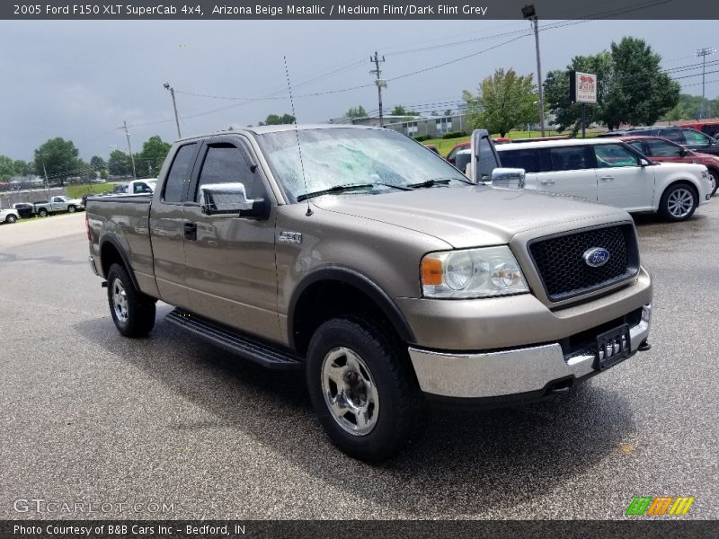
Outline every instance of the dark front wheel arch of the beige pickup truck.
[[[342, 297], [345, 302], [338, 301]], [[404, 342], [413, 342], [412, 328], [386, 292], [370, 278], [344, 267], [315, 270], [295, 289], [288, 306], [288, 344], [304, 354], [312, 333], [333, 314], [376, 312]]]

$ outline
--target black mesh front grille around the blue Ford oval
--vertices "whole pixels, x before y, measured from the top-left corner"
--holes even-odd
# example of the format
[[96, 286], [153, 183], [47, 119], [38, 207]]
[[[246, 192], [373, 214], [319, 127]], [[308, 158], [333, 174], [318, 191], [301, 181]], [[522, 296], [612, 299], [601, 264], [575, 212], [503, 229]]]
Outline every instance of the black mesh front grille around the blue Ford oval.
[[[582, 258], [595, 247], [610, 253], [609, 260], [599, 268], [592, 268]], [[635, 276], [639, 270], [639, 250], [632, 225], [538, 238], [529, 244], [529, 253], [550, 301], [563, 301], [608, 287]]]

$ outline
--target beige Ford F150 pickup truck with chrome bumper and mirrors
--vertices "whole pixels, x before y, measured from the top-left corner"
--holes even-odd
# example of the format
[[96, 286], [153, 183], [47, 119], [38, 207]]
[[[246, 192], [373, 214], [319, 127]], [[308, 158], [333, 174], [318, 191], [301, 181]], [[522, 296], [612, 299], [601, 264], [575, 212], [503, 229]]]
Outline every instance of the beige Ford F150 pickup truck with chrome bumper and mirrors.
[[[482, 172], [496, 155], [473, 147]], [[413, 439], [426, 402], [564, 393], [649, 333], [624, 210], [468, 182], [386, 129], [180, 140], [152, 197], [91, 198], [86, 218], [123, 335], [151, 331], [161, 299], [169, 322], [306, 369], [327, 434], [367, 461]]]

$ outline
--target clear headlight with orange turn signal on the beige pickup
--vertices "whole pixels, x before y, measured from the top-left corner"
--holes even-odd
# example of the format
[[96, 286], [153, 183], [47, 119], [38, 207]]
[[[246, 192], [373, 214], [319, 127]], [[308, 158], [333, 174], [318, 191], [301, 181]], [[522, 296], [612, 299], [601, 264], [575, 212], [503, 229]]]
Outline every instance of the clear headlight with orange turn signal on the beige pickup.
[[461, 299], [509, 296], [529, 291], [506, 245], [431, 252], [422, 259], [422, 294]]

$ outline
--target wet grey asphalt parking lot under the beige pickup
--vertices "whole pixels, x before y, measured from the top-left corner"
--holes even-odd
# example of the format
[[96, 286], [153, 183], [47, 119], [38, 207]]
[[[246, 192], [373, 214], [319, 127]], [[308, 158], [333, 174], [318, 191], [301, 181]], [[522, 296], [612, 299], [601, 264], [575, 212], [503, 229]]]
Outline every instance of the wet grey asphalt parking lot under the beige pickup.
[[168, 305], [149, 338], [120, 337], [83, 213], [2, 225], [0, 517], [621, 518], [635, 496], [684, 495], [688, 517], [717, 518], [719, 200], [686, 223], [636, 220], [650, 351], [560, 402], [432, 411], [380, 466], [330, 445], [301, 374], [178, 331]]

